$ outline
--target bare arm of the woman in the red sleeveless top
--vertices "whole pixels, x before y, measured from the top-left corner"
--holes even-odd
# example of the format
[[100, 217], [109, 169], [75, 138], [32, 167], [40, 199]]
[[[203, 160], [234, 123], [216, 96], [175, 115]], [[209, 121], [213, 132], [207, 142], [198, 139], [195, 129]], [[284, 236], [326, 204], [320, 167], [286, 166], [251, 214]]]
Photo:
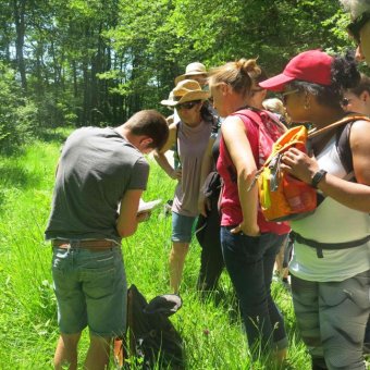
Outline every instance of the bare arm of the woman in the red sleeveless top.
[[243, 121], [236, 116], [227, 118], [221, 130], [229, 153], [236, 168], [237, 188], [243, 212], [243, 222], [234, 229], [234, 232], [242, 231], [250, 236], [259, 235], [257, 186], [254, 186], [249, 192], [247, 190], [257, 172], [255, 158], [247, 138], [248, 133]]

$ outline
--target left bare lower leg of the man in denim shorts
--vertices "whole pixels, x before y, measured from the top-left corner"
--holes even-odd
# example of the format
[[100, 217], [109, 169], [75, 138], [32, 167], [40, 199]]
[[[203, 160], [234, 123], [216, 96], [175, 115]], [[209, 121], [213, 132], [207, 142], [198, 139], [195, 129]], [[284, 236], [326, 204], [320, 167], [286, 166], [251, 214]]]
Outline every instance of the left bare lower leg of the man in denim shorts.
[[81, 332], [76, 334], [61, 334], [54, 354], [54, 369], [77, 369], [77, 345]]

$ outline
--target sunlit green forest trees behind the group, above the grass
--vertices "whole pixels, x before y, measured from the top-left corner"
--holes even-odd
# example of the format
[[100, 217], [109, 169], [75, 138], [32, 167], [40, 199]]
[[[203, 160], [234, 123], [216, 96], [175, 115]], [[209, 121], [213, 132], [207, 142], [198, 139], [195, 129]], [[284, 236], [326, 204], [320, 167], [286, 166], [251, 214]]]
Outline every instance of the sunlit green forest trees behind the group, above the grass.
[[353, 48], [347, 22], [329, 0], [2, 0], [0, 148], [166, 114], [159, 101], [194, 61], [258, 57], [271, 75], [299, 51]]

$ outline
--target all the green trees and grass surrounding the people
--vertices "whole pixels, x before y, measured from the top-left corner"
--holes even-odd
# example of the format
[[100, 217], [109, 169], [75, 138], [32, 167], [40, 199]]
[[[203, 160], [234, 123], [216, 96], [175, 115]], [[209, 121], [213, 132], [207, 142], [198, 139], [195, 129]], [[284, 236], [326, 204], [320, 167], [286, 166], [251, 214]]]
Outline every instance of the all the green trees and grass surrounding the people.
[[[1, 370], [52, 367], [59, 333], [44, 230], [67, 134], [119, 125], [140, 109], [169, 114], [159, 101], [190, 62], [209, 69], [258, 57], [272, 75], [299, 51], [353, 49], [347, 22], [336, 0], [0, 1]], [[151, 168], [145, 199], [169, 199], [174, 183]], [[128, 281], [147, 298], [168, 292], [170, 233], [171, 218], [157, 210], [123, 242]], [[198, 271], [192, 243], [184, 307], [174, 316], [187, 369], [250, 369], [227, 274], [220, 297], [200, 301]], [[285, 316], [291, 368], [309, 369], [291, 296], [278, 283], [273, 294]], [[273, 369], [266, 361], [254, 369]]]

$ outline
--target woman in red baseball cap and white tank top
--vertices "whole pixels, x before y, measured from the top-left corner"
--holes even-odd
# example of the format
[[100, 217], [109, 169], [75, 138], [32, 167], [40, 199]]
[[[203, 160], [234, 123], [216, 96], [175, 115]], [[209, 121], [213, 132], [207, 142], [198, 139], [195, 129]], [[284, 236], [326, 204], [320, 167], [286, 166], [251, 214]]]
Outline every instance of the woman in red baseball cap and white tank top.
[[343, 111], [344, 89], [360, 75], [353, 55], [309, 50], [283, 73], [260, 84], [282, 91], [294, 122], [319, 131], [313, 156], [292, 148], [282, 166], [312, 185], [322, 198], [314, 213], [291, 223], [295, 237], [289, 266], [297, 324], [312, 369], [363, 369], [362, 343], [370, 312], [370, 122]]

